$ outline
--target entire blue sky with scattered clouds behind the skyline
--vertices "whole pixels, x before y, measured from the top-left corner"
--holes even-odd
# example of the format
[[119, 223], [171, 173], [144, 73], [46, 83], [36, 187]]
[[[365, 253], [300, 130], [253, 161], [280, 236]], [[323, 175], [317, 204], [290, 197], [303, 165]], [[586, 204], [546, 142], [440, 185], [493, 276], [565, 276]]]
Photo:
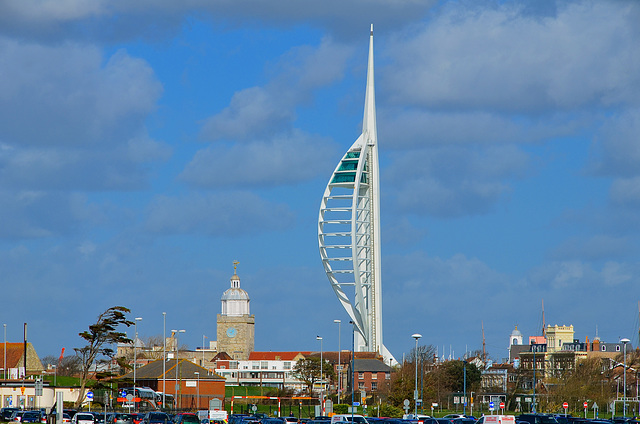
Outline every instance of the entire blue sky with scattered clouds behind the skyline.
[[[375, 29], [384, 341], [459, 357], [537, 335], [638, 345], [640, 4], [327, 0], [0, 4], [9, 341], [215, 338], [232, 261], [256, 350], [337, 349], [318, 208], [359, 135]], [[350, 345], [342, 326], [341, 347]]]

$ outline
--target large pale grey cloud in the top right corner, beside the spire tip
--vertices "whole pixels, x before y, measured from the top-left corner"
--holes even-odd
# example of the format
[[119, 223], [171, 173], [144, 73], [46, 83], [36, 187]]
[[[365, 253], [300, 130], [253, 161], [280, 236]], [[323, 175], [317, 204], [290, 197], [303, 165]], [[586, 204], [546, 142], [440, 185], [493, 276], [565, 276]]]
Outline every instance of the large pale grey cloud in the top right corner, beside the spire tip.
[[[386, 46], [385, 92], [398, 103], [509, 114], [637, 105], [639, 5], [453, 2]], [[606, 60], [603, 58], [606, 57]]]

